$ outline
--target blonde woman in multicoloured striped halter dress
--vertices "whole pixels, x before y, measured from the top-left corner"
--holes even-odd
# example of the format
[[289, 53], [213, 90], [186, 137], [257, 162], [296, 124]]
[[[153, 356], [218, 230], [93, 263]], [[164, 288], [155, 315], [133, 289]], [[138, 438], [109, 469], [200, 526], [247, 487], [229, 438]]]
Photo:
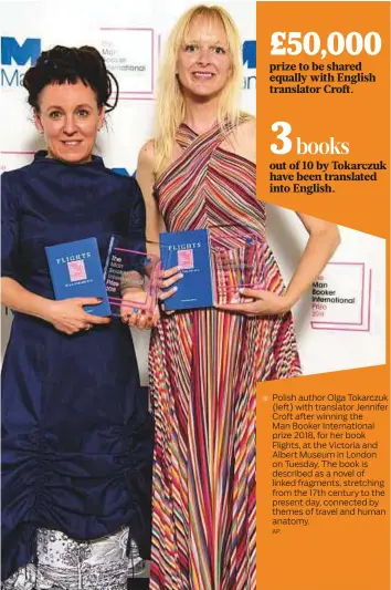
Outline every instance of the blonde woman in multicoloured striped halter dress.
[[[300, 374], [289, 309], [338, 241], [335, 226], [300, 215], [309, 240], [284, 289], [256, 199], [255, 123], [239, 111], [240, 65], [230, 15], [189, 10], [168, 40], [157, 134], [139, 156], [149, 240], [162, 222], [208, 228], [214, 260], [236, 252], [261, 287], [244, 302], [162, 313], [152, 333], [152, 590], [255, 589], [256, 382]], [[178, 279], [166, 271], [169, 293]]]

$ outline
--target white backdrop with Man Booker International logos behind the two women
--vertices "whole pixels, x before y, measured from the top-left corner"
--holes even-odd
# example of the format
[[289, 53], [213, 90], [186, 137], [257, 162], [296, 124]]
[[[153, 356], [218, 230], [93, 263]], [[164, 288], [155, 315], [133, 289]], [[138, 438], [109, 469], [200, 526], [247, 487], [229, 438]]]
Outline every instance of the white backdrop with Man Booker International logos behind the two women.
[[[241, 32], [242, 106], [255, 114], [255, 2], [220, 3]], [[96, 153], [118, 174], [135, 174], [138, 152], [152, 136], [161, 49], [177, 18], [194, 4], [187, 0], [2, 2], [0, 170], [28, 164], [43, 147], [21, 86], [27, 69], [41, 50], [54, 44], [89, 44], [103, 53], [120, 87], [119, 104], [107, 117]], [[257, 117], [262, 115], [262, 111], [257, 113]], [[306, 231], [294, 211], [276, 206], [268, 207], [267, 229], [288, 281], [305, 246]], [[384, 362], [384, 240], [348, 228], [341, 228], [341, 235], [338, 252], [294, 310], [305, 374]], [[3, 310], [2, 352], [11, 321], [12, 315]], [[135, 332], [134, 338], [146, 382], [149, 334]]]

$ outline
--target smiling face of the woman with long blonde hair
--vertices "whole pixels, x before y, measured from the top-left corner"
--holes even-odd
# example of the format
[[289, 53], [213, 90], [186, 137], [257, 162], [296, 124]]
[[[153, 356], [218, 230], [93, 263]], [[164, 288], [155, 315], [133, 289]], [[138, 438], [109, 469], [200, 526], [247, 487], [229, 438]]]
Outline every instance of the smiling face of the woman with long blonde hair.
[[232, 59], [223, 23], [197, 17], [178, 52], [177, 74], [184, 96], [211, 99], [224, 89]]

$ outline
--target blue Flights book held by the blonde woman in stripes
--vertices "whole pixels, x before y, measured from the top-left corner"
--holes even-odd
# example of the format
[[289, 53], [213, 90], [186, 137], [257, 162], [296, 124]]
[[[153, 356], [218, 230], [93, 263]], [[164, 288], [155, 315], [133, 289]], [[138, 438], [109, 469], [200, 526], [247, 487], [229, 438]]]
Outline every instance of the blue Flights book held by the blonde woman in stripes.
[[161, 268], [181, 267], [178, 291], [166, 299], [169, 311], [210, 308], [213, 289], [208, 229], [160, 234]]

